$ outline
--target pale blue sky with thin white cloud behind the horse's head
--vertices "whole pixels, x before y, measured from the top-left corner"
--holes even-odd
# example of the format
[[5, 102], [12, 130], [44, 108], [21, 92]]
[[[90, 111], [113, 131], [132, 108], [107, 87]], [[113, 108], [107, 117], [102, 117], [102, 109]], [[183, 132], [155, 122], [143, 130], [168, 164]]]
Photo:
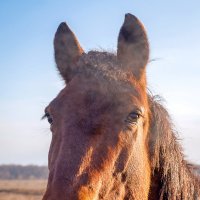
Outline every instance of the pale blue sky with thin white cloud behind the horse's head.
[[0, 1], [0, 164], [46, 165], [44, 108], [64, 87], [53, 38], [66, 21], [84, 50], [115, 51], [125, 13], [145, 25], [148, 87], [161, 95], [186, 158], [200, 164], [200, 1]]

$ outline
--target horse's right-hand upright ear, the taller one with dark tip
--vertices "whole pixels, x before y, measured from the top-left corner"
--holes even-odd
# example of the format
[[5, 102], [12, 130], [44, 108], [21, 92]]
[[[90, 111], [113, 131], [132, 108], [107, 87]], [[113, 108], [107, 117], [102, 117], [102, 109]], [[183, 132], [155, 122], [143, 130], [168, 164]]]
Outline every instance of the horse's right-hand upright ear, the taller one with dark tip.
[[137, 80], [145, 78], [149, 60], [149, 43], [142, 23], [133, 15], [126, 14], [118, 37], [118, 60], [132, 71]]

